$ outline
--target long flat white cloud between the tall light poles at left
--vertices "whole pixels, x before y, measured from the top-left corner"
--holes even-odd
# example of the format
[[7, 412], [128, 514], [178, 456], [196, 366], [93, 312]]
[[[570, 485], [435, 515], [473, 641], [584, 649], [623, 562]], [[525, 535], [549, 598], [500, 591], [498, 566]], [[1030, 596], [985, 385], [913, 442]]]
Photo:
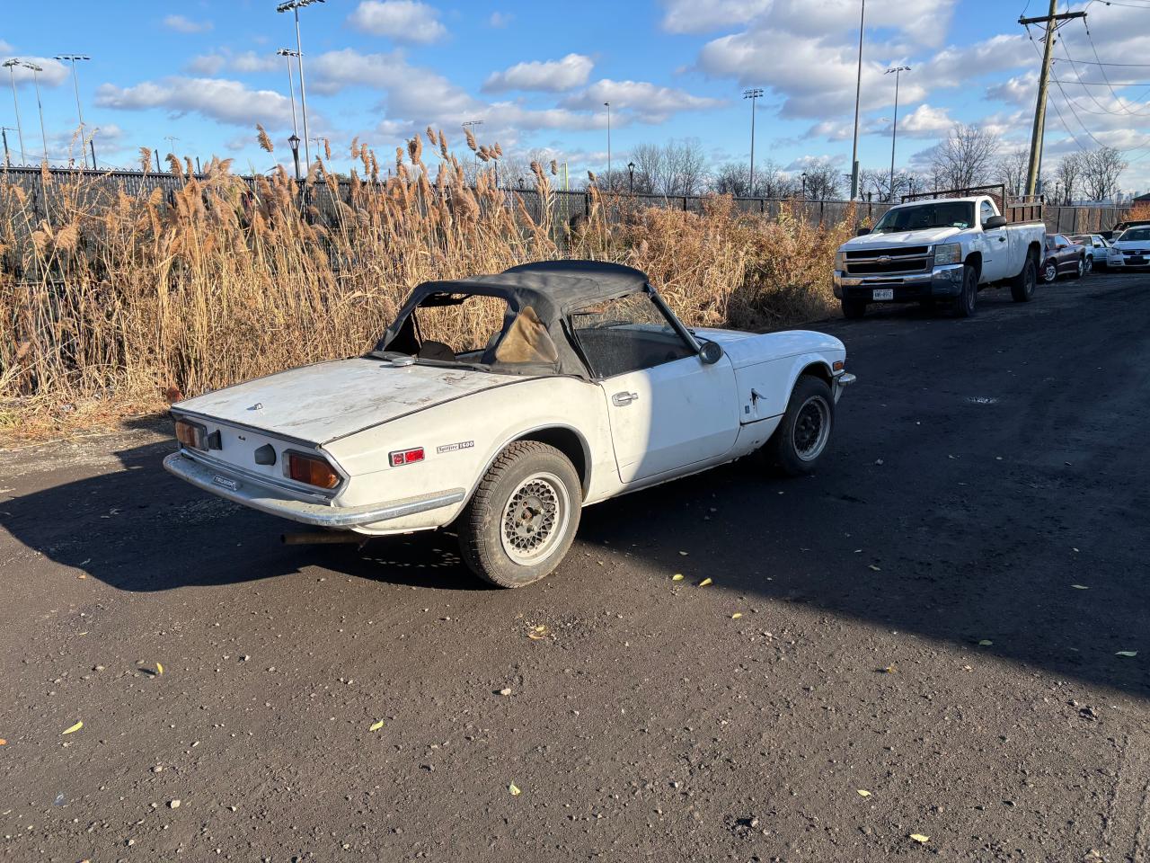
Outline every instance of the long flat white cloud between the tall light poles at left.
[[288, 97], [271, 90], [250, 90], [238, 81], [174, 76], [135, 86], [101, 84], [95, 91], [101, 108], [148, 110], [160, 108], [172, 116], [198, 114], [222, 123], [254, 127], [291, 123]]

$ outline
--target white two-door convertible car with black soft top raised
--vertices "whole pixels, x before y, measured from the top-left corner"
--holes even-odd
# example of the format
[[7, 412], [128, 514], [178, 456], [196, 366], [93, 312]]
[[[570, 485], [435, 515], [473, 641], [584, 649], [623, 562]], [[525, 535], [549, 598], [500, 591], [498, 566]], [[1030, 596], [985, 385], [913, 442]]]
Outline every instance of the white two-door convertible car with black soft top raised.
[[[491, 304], [485, 343], [422, 337], [421, 318]], [[589, 504], [752, 453], [812, 471], [845, 360], [821, 333], [688, 329], [630, 267], [528, 264], [421, 284], [363, 357], [174, 405], [164, 467], [331, 530], [452, 525], [473, 571], [521, 587], [559, 565]]]

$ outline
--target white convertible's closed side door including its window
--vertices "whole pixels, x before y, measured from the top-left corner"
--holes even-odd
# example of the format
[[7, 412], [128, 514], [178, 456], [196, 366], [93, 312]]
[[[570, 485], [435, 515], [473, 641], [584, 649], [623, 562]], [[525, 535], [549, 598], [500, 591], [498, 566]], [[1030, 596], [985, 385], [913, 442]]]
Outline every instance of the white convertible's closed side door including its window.
[[578, 310], [570, 327], [603, 389], [621, 482], [685, 473], [735, 444], [730, 360], [703, 362], [649, 295]]

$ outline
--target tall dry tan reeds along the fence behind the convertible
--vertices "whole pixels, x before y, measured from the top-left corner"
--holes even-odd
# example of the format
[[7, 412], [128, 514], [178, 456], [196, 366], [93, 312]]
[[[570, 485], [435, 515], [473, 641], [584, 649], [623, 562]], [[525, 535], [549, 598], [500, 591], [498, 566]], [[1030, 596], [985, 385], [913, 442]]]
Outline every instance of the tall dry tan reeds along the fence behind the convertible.
[[[467, 188], [443, 133], [427, 137], [427, 150], [415, 138], [397, 151], [391, 177], [353, 143], [362, 171], [350, 199], [329, 198], [324, 215], [308, 219], [283, 171], [252, 191], [218, 160], [200, 181], [169, 156], [183, 180], [170, 196], [45, 175], [44, 198], [32, 201], [0, 175], [0, 437], [158, 411], [166, 399], [361, 353], [414, 284], [530, 260], [630, 264], [692, 324], [775, 326], [831, 303], [844, 226], [741, 216], [722, 198], [702, 215], [612, 201], [623, 217], [607, 220], [593, 194], [590, 217], [572, 231], [543, 167], [535, 184], [547, 206], [532, 217], [522, 201], [505, 206], [491, 171]], [[500, 152], [468, 145], [481, 160]], [[337, 192], [320, 160], [306, 186], [312, 199]], [[444, 322], [435, 337], [463, 342], [488, 323]]]

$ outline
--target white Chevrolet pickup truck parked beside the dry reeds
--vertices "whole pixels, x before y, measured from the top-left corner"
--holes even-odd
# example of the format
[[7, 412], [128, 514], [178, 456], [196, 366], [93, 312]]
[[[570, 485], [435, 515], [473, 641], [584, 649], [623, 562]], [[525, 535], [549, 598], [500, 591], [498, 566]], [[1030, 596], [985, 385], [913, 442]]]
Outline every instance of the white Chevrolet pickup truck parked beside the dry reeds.
[[951, 303], [974, 314], [983, 287], [1007, 283], [1017, 303], [1034, 296], [1046, 227], [1010, 223], [994, 198], [935, 198], [899, 204], [835, 254], [835, 296], [845, 318], [869, 303]]

